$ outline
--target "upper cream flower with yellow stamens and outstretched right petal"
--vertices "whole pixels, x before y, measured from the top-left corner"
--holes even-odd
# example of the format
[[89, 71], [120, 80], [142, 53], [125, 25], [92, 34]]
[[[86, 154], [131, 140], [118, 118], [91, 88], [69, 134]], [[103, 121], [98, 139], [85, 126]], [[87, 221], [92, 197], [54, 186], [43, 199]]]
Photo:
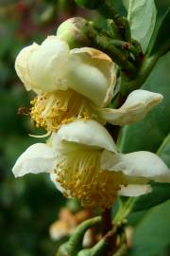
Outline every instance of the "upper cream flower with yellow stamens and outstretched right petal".
[[26, 90], [37, 93], [31, 101], [32, 119], [50, 132], [73, 119], [128, 124], [143, 119], [162, 99], [161, 94], [135, 90], [119, 109], [106, 108], [113, 97], [115, 64], [91, 47], [70, 50], [57, 36], [25, 47], [15, 68]]

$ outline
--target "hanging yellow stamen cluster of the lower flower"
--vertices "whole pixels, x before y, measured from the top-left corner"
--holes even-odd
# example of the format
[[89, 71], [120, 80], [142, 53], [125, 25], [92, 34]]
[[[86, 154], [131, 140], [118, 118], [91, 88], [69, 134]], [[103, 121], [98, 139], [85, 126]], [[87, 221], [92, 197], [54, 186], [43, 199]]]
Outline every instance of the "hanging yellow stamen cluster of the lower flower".
[[[68, 142], [65, 142], [68, 143]], [[59, 156], [57, 181], [65, 190], [80, 200], [84, 207], [110, 208], [120, 189], [121, 174], [100, 169], [101, 150], [77, 149]]]

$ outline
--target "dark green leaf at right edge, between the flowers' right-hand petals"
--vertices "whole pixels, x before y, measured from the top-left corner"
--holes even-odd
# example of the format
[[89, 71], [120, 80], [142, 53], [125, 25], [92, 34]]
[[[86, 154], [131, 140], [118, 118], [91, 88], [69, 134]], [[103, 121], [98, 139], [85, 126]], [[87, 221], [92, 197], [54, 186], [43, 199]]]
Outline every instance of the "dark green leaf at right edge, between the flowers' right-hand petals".
[[122, 153], [134, 151], [151, 151], [156, 153], [162, 141], [170, 131], [170, 53], [164, 55], [156, 64], [150, 76], [144, 82], [143, 89], [159, 92], [163, 101], [134, 124], [124, 126], [118, 139], [118, 147]]

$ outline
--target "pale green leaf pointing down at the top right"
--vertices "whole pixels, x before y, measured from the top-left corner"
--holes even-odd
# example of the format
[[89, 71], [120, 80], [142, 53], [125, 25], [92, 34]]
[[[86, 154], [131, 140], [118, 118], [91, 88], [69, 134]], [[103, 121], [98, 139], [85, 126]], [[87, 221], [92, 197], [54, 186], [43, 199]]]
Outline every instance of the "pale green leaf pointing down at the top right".
[[132, 38], [140, 42], [145, 51], [156, 23], [157, 9], [154, 0], [129, 0], [127, 19]]

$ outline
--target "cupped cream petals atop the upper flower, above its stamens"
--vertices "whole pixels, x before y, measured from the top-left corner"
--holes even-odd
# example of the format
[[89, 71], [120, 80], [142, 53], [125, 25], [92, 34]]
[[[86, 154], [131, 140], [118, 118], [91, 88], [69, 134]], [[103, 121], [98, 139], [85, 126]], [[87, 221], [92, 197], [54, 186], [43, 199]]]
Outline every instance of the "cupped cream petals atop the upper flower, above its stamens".
[[48, 36], [41, 46], [34, 43], [24, 48], [15, 69], [27, 90], [70, 88], [99, 106], [112, 98], [115, 71], [110, 57], [90, 47], [69, 50], [57, 36]]

